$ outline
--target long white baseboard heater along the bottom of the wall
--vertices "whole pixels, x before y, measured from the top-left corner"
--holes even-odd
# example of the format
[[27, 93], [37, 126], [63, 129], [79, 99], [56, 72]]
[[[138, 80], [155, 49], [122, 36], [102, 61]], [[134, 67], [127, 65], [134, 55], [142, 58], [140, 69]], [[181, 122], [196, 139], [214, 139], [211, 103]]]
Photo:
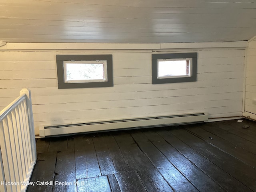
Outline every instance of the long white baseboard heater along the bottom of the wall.
[[75, 134], [81, 132], [106, 131], [124, 128], [142, 128], [153, 126], [168, 126], [174, 124], [185, 124], [194, 122], [205, 122], [208, 120], [206, 112], [193, 114], [178, 114], [170, 116], [152, 116], [143, 118], [131, 118], [120, 120], [109, 120], [99, 122], [87, 122], [79, 124], [66, 124], [56, 126], [40, 127], [40, 137]]

